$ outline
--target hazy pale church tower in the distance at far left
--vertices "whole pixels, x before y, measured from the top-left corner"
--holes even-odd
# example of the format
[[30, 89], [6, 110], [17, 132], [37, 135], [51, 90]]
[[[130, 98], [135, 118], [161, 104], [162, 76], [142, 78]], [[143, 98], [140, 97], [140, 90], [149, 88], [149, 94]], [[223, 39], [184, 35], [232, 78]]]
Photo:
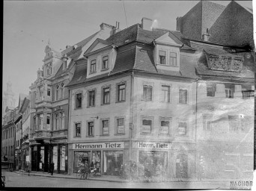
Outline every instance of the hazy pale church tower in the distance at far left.
[[6, 113], [6, 107], [8, 107], [11, 110], [15, 108], [15, 98], [14, 98], [14, 93], [11, 86], [12, 86], [11, 82], [8, 81], [7, 90], [4, 92], [2, 106], [1, 106], [1, 118], [3, 121], [4, 121], [3, 117]]

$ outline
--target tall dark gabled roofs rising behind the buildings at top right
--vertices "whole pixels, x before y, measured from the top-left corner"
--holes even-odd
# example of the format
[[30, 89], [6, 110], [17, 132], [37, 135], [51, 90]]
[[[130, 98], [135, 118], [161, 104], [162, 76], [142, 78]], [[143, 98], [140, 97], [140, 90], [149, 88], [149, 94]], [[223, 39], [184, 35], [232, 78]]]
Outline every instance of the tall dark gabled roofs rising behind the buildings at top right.
[[204, 37], [211, 43], [226, 46], [255, 47], [252, 9], [239, 1], [226, 7], [210, 1], [200, 1], [182, 17], [177, 17], [177, 31], [193, 40]]

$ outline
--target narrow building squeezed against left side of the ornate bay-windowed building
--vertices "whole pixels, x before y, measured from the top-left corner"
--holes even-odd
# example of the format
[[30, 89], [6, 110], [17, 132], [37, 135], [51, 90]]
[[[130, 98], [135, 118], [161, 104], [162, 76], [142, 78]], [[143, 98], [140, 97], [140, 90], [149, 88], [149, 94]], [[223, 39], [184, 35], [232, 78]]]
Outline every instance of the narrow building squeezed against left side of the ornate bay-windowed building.
[[22, 115], [22, 132], [20, 138], [20, 150], [21, 150], [21, 167], [20, 169], [25, 170], [28, 167], [29, 161], [31, 161], [31, 155], [29, 153], [29, 134], [30, 134], [30, 99], [29, 95], [27, 95], [20, 107], [19, 113]]

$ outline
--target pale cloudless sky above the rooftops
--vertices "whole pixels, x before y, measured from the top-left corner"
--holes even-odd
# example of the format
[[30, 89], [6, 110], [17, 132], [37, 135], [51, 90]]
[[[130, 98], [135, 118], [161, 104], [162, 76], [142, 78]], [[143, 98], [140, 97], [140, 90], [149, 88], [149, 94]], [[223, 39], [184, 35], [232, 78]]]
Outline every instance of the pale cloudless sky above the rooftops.
[[[230, 1], [213, 1], [228, 5]], [[50, 41], [56, 51], [100, 31], [105, 22], [120, 22], [124, 29], [141, 23], [142, 17], [156, 19], [159, 28], [176, 29], [177, 16], [185, 15], [198, 1], [4, 1], [3, 92], [11, 81], [16, 106], [19, 93], [29, 87], [42, 69], [44, 49]], [[252, 1], [240, 1], [252, 8]], [[255, 7], [255, 1], [254, 5]]]

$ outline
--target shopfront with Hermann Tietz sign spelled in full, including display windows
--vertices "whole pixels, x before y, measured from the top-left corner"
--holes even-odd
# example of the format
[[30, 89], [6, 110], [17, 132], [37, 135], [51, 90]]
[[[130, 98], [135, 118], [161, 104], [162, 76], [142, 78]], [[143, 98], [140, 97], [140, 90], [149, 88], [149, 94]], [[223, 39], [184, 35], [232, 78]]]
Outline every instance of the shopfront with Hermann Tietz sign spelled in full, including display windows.
[[125, 142], [70, 143], [69, 172], [78, 172], [88, 163], [101, 175], [120, 175], [124, 161], [129, 160], [129, 145]]

